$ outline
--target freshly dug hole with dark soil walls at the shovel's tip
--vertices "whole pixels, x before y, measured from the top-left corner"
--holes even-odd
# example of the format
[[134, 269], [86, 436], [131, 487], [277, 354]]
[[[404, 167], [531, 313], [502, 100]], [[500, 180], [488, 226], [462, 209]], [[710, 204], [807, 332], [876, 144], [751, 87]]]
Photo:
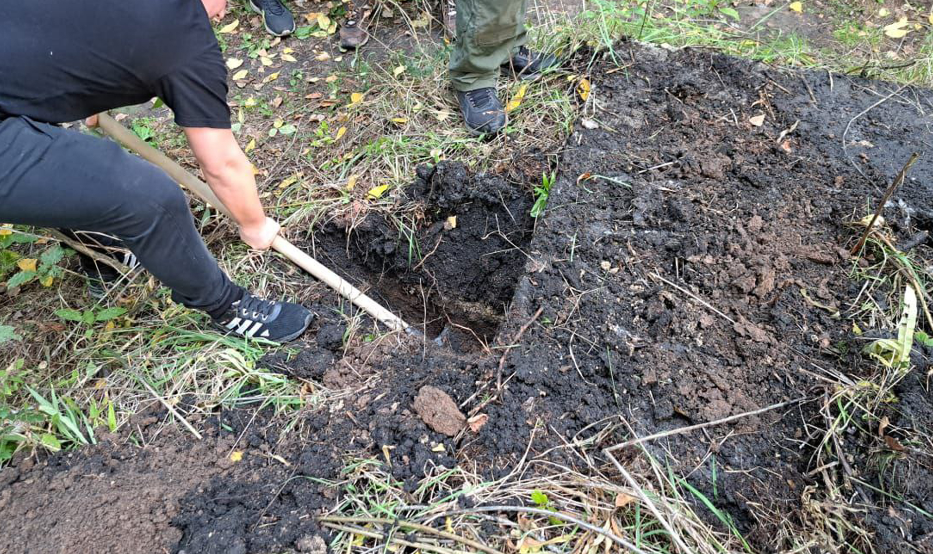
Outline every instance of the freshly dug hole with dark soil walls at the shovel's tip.
[[408, 196], [411, 219], [332, 223], [309, 249], [430, 339], [446, 329], [441, 339], [455, 350], [475, 350], [494, 339], [524, 270], [530, 187], [441, 162], [419, 170]]

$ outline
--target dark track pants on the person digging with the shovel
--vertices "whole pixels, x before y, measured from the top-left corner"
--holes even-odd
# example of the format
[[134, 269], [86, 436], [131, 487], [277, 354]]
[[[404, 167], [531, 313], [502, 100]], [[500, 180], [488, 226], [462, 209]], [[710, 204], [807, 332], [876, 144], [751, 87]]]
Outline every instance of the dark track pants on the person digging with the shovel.
[[242, 291], [217, 267], [167, 174], [80, 132], [0, 120], [0, 222], [114, 235], [176, 302], [212, 315]]

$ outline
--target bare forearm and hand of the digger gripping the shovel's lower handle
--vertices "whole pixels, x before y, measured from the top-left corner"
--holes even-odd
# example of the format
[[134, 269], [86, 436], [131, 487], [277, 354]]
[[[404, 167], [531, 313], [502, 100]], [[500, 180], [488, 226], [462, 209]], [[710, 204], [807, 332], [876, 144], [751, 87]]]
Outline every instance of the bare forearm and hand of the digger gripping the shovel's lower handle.
[[185, 135], [201, 165], [204, 180], [240, 226], [240, 238], [258, 250], [269, 248], [279, 232], [279, 225], [266, 217], [256, 190], [253, 165], [246, 159], [233, 132], [186, 127]]

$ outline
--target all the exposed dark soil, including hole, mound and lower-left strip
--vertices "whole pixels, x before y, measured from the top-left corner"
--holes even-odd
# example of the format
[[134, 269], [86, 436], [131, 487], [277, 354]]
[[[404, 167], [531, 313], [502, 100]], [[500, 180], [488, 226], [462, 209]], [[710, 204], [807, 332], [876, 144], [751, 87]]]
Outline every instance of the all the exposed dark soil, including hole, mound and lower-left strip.
[[[787, 546], [778, 523], [799, 523], [803, 499], [826, 486], [809, 474], [826, 428], [820, 402], [833, 392], [819, 377], [832, 370], [857, 381], [874, 370], [845, 317], [860, 287], [849, 279], [856, 262], [846, 249], [857, 237], [846, 223], [929, 144], [933, 95], [904, 90], [849, 125], [894, 89], [703, 49], [623, 43], [616, 51], [626, 66], [608, 74], [598, 62], [592, 71], [594, 116], [571, 135], [534, 236], [528, 211], [539, 168], [515, 183], [455, 164], [421, 172], [411, 187], [424, 206], [406, 223], [420, 256], [410, 257], [396, 222], [374, 215], [349, 235], [334, 226], [315, 236], [328, 265], [425, 322], [429, 335], [456, 330], [453, 348], [356, 339], [343, 353], [343, 328], [325, 317], [303, 352], [267, 365], [352, 395], [299, 414], [288, 433], [264, 416], [225, 412], [233, 431], [205, 420], [202, 442], [144, 432], [142, 449], [104, 444], [7, 468], [0, 549], [295, 551], [314, 535], [328, 538], [313, 517], [341, 493], [304, 477], [337, 478], [350, 453], [387, 456], [413, 490], [437, 465], [468, 460], [497, 478], [529, 444], [534, 458], [611, 427], [591, 451], [605, 462], [600, 448], [631, 437], [623, 422], [648, 435], [804, 398], [646, 444], [729, 512], [756, 551]], [[759, 115], [756, 127], [749, 119]], [[886, 214], [898, 240], [933, 221], [931, 170], [921, 159]], [[452, 215], [457, 226], [445, 229]], [[930, 254], [924, 240], [914, 248]], [[480, 404], [494, 391], [503, 350], [474, 350], [473, 333], [491, 346], [515, 344], [538, 309], [508, 351], [502, 395]], [[924, 551], [933, 536], [933, 522], [912, 507], [933, 512], [933, 461], [921, 444], [933, 405], [919, 358], [888, 408], [903, 450], [876, 429], [853, 430], [842, 434], [846, 464], [829, 470], [842, 487], [843, 466], [852, 465], [860, 480], [911, 503], [846, 490], [864, 499], [850, 517], [876, 533], [881, 551]], [[426, 385], [488, 422], [453, 438], [433, 431], [414, 406]], [[234, 449], [245, 452], [241, 462], [229, 462]], [[568, 451], [546, 456], [580, 465]], [[618, 453], [641, 463], [640, 450]]]

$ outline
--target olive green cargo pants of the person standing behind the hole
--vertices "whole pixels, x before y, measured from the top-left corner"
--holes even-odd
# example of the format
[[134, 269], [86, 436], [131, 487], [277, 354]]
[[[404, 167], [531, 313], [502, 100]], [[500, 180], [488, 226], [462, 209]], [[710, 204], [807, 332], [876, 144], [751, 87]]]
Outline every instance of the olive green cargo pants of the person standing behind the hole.
[[527, 0], [456, 0], [457, 31], [450, 62], [455, 90], [495, 87], [499, 66], [525, 43]]

